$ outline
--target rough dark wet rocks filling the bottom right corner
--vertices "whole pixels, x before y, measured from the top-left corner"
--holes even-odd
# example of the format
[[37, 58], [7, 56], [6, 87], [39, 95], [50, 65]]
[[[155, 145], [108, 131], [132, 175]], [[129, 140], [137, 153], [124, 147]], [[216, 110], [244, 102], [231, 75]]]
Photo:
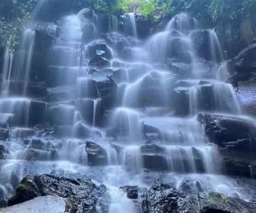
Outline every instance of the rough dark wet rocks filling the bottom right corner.
[[226, 197], [218, 193], [206, 196], [188, 196], [171, 188], [168, 184], [154, 185], [145, 195], [142, 203], [144, 213], [148, 212], [195, 212], [195, 213], [239, 213], [254, 212], [255, 203], [237, 198]]

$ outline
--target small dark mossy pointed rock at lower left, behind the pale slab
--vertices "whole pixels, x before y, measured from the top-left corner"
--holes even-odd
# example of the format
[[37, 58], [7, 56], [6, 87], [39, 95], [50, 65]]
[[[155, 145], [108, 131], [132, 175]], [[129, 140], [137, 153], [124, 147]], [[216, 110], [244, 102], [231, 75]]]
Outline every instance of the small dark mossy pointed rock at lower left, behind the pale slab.
[[15, 195], [8, 201], [8, 205], [15, 205], [29, 201], [39, 195], [39, 191], [35, 183], [33, 183], [31, 177], [26, 176], [22, 179], [21, 183], [19, 183]]

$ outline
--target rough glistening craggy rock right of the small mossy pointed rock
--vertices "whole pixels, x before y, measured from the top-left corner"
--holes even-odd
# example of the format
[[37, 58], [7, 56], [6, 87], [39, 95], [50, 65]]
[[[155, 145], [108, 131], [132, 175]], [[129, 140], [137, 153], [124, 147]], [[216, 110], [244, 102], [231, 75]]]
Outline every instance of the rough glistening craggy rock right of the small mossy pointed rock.
[[66, 212], [96, 212], [97, 198], [102, 188], [90, 179], [70, 179], [54, 175], [38, 175], [34, 178], [42, 196], [56, 195], [66, 199]]

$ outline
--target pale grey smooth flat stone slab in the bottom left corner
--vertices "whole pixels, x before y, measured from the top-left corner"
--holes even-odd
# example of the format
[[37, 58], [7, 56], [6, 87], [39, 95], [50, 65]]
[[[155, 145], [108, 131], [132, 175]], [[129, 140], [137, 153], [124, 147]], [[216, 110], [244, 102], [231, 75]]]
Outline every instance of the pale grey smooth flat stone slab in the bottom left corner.
[[60, 213], [65, 211], [65, 201], [57, 196], [36, 197], [33, 200], [26, 201], [0, 209], [0, 213]]

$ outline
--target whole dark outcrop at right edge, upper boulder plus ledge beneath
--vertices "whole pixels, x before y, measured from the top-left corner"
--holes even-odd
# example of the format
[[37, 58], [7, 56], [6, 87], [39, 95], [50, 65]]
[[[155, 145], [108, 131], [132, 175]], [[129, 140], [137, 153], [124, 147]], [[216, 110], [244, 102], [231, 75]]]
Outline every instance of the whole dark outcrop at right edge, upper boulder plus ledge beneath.
[[198, 114], [210, 142], [219, 147], [224, 173], [255, 177], [255, 123], [225, 115]]

